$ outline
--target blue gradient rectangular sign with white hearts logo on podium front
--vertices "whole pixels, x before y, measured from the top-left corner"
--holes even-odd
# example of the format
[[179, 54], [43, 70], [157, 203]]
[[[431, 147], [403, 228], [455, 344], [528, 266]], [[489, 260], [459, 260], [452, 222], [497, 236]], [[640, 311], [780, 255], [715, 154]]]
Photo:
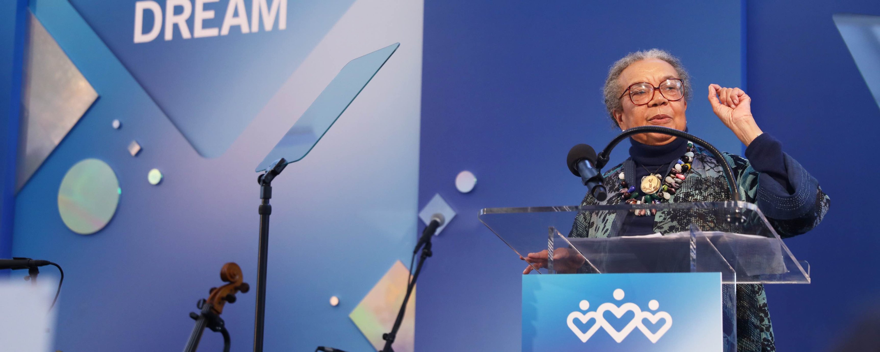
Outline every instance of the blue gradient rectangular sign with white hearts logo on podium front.
[[523, 351], [548, 349], [721, 352], [721, 275], [523, 275]]

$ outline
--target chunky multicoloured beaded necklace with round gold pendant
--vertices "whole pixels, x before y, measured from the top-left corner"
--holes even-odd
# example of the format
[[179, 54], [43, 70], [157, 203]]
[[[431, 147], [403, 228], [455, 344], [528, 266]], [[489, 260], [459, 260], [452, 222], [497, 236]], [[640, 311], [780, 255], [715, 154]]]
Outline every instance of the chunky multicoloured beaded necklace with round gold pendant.
[[[627, 185], [626, 175], [620, 172], [620, 194], [627, 204], [648, 204], [670, 202], [672, 194], [681, 187], [681, 183], [685, 181], [686, 173], [691, 170], [693, 162], [693, 153], [696, 148], [693, 143], [687, 143], [687, 152], [678, 158], [674, 166], [670, 168], [669, 174], [663, 178], [659, 173], [649, 173], [648, 176], [642, 177], [642, 185], [640, 189], [635, 186]], [[636, 216], [655, 215], [656, 209], [634, 209], [632, 210]]]

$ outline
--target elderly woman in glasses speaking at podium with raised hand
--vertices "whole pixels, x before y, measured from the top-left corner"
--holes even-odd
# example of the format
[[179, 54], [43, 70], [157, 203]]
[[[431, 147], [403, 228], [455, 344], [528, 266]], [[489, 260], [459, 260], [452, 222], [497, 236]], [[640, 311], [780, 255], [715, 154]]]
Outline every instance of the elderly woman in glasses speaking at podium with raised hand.
[[[685, 113], [690, 96], [687, 71], [678, 58], [660, 49], [631, 53], [614, 62], [605, 80], [605, 106], [620, 129], [662, 126], [686, 130]], [[741, 89], [710, 84], [708, 99], [715, 115], [746, 145], [746, 158], [724, 155], [737, 178], [742, 199], [757, 204], [783, 238], [812, 230], [822, 221], [829, 205], [828, 196], [818, 187], [818, 181], [794, 158], [782, 152], [779, 141], [761, 131], [752, 118], [752, 99]], [[730, 200], [722, 166], [708, 151], [680, 138], [656, 133], [634, 135], [630, 143], [630, 158], [605, 173], [608, 190], [618, 190], [621, 186], [626, 189], [609, 194], [603, 203]], [[683, 162], [679, 163], [679, 160]], [[659, 182], [661, 187], [646, 194], [640, 186], [650, 178], [656, 180], [649, 180], [649, 183]], [[649, 191], [653, 190], [651, 188]], [[582, 204], [598, 203], [587, 194]], [[694, 218], [668, 211], [656, 214], [631, 211], [626, 216], [612, 212], [603, 216], [582, 213], [577, 216], [570, 236], [607, 237], [612, 228], [620, 229], [612, 236], [671, 233], [686, 231], [694, 222], [697, 222]], [[554, 254], [554, 258], [566, 256], [566, 253], [560, 251]], [[526, 260], [542, 267], [546, 263], [546, 251], [531, 253]], [[575, 271], [582, 262], [569, 260], [568, 271]], [[560, 267], [562, 271], [566, 270], [564, 260], [557, 265]], [[531, 269], [526, 268], [524, 274]], [[740, 284], [736, 290], [737, 350], [774, 351], [773, 327], [764, 287]]]

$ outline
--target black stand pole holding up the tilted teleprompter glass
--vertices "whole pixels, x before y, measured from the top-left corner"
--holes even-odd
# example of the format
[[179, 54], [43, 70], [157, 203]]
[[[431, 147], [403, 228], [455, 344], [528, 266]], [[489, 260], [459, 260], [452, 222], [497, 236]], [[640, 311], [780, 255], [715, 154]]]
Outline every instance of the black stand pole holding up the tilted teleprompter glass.
[[263, 350], [263, 324], [266, 320], [266, 270], [269, 254], [269, 215], [272, 214], [272, 180], [287, 166], [287, 160], [275, 160], [266, 169], [266, 173], [257, 177], [260, 184], [260, 253], [257, 254], [257, 307], [253, 321], [253, 351]]

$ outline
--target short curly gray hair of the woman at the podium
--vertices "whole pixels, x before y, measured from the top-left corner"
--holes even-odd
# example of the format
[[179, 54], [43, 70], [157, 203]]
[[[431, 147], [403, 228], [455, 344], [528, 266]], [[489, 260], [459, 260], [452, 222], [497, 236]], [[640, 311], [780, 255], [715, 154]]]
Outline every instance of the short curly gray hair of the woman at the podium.
[[629, 53], [611, 65], [611, 69], [608, 70], [608, 77], [605, 78], [605, 88], [602, 90], [603, 93], [605, 93], [605, 108], [608, 109], [608, 116], [611, 117], [614, 126], [618, 126], [617, 121], [614, 120], [614, 112], [623, 109], [623, 106], [620, 105], [620, 99], [618, 98], [620, 97], [620, 94], [623, 94], [623, 91], [627, 89], [627, 87], [622, 86], [620, 82], [618, 82], [620, 79], [620, 73], [622, 73], [623, 70], [626, 70], [627, 67], [634, 62], [649, 59], [659, 59], [664, 62], [669, 62], [669, 64], [672, 65], [672, 68], [678, 73], [678, 78], [681, 79], [681, 82], [685, 87], [685, 101], [691, 99], [691, 77], [687, 74], [685, 67], [681, 65], [681, 61], [678, 60], [678, 57], [671, 55], [666, 50], [657, 48]]

